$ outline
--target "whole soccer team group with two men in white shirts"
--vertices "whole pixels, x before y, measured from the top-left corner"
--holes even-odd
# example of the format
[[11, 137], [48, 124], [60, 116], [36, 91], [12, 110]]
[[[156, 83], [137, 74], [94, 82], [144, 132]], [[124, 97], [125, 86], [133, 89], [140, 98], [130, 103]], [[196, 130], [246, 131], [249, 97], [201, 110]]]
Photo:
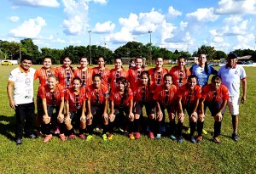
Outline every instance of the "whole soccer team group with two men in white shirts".
[[[232, 138], [238, 141], [240, 82], [241, 103], [244, 103], [247, 81], [245, 70], [236, 62], [236, 53], [230, 53], [227, 64], [217, 71], [207, 65], [206, 54], [201, 54], [198, 64], [190, 68], [186, 67], [186, 59], [179, 57], [171, 70], [163, 67], [162, 58], [155, 59], [154, 68], [145, 70], [143, 59], [137, 57], [134, 65], [125, 70], [122, 59], [116, 58], [114, 68], [108, 70], [103, 57], [98, 58], [97, 67], [90, 69], [85, 57], [80, 59], [79, 67], [73, 68], [72, 59], [64, 56], [61, 67], [53, 68], [47, 56], [43, 67], [34, 70], [32, 58], [23, 56], [20, 66], [10, 72], [7, 86], [10, 107], [15, 109], [15, 142], [21, 144], [22, 137], [37, 138], [42, 133], [46, 143], [53, 138], [53, 130], [61, 141], [76, 137], [90, 141], [99, 124], [104, 141], [113, 139], [114, 127], [121, 127], [129, 138], [138, 139], [141, 137], [140, 116], [145, 107], [148, 137], [159, 139], [161, 133], [166, 132], [167, 113], [168, 133], [177, 143], [183, 143], [185, 111], [189, 117], [189, 141], [202, 141], [208, 108], [214, 119], [212, 140], [220, 143], [226, 105], [232, 116]], [[211, 83], [207, 84], [211, 75]], [[33, 99], [36, 79], [39, 79], [37, 117]], [[38, 135], [33, 133], [35, 119]]]

